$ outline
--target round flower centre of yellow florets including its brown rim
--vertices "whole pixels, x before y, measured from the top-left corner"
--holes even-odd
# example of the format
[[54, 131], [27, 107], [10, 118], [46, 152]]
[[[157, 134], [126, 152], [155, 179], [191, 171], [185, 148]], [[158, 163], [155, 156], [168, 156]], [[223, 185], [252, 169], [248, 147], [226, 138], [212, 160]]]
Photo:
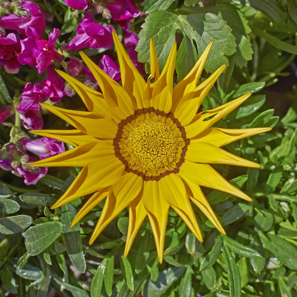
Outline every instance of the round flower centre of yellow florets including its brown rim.
[[185, 131], [178, 120], [153, 108], [139, 109], [122, 120], [113, 143], [126, 171], [145, 180], [176, 172], [187, 149]]

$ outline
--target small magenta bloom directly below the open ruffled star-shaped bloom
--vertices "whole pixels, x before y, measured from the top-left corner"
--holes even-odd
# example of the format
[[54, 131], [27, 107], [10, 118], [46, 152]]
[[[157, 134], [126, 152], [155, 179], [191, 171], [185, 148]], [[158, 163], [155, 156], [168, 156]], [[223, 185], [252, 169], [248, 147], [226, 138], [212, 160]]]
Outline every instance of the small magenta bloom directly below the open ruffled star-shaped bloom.
[[65, 82], [60, 76], [57, 76], [51, 65], [49, 65], [47, 70], [48, 78], [42, 81], [44, 92], [51, 102], [60, 101], [64, 96]]

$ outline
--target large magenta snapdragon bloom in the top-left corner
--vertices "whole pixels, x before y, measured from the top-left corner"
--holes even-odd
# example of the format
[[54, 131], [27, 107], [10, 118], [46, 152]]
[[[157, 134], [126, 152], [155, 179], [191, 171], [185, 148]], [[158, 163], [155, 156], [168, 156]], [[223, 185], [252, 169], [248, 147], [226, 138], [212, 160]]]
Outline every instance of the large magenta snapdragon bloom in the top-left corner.
[[31, 17], [17, 17], [14, 14], [2, 16], [0, 26], [18, 30], [24, 37], [42, 39], [41, 35], [46, 28], [46, 20], [42, 17], [42, 10], [32, 1], [22, 1], [22, 6], [31, 13]]

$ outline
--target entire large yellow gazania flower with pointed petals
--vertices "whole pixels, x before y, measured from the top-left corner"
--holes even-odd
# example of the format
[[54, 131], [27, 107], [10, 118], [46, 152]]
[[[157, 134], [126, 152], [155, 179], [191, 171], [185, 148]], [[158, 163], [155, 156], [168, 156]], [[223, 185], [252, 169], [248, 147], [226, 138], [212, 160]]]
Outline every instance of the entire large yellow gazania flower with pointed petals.
[[83, 52], [81, 56], [103, 94], [58, 71], [80, 95], [89, 111], [41, 104], [76, 129], [31, 132], [63, 141], [75, 148], [32, 163], [32, 166], [83, 167], [69, 189], [51, 208], [94, 193], [77, 213], [73, 226], [107, 197], [90, 239], [92, 244], [129, 205], [125, 256], [148, 216], [161, 263], [169, 207], [179, 214], [200, 242], [203, 239], [191, 201], [225, 234], [200, 186], [230, 193], [247, 201], [251, 201], [251, 198], [228, 183], [209, 164], [260, 167], [220, 147], [267, 132], [270, 128], [210, 128], [251, 94], [197, 113], [202, 100], [225, 69], [223, 65], [197, 87], [212, 43], [190, 73], [173, 88], [176, 43], [160, 74], [155, 46], [150, 40], [151, 74], [146, 83], [114, 32], [113, 39], [123, 87]]

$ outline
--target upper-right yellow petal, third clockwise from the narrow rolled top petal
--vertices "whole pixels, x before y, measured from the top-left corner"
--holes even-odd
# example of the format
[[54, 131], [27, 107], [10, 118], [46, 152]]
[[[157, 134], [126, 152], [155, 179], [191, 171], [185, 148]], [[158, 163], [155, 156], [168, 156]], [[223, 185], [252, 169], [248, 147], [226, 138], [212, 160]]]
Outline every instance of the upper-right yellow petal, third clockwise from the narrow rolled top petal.
[[[214, 85], [219, 76], [225, 70], [226, 65], [221, 66], [215, 71], [209, 78], [203, 81], [196, 89], [192, 92], [187, 93], [178, 103], [174, 112], [174, 117], [177, 118], [183, 126], [188, 125], [196, 115], [196, 112]], [[172, 111], [172, 109], [171, 109]]]

